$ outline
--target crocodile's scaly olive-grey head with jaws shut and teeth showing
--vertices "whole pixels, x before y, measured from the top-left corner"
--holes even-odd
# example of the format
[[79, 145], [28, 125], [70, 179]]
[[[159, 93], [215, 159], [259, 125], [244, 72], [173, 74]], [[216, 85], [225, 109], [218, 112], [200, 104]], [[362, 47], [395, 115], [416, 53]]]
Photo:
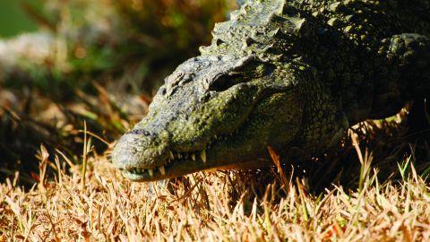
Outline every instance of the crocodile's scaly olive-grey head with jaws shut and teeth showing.
[[268, 164], [267, 145], [282, 147], [299, 129], [296, 86], [286, 69], [253, 55], [189, 59], [116, 143], [112, 160], [134, 181]]

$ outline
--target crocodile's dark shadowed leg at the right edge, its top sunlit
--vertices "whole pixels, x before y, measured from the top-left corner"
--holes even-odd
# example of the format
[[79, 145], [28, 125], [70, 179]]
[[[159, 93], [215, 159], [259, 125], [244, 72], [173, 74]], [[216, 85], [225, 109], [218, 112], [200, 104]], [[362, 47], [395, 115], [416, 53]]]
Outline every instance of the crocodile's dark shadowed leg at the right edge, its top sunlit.
[[430, 91], [430, 39], [403, 33], [383, 39], [378, 54], [390, 63], [375, 78], [374, 101], [370, 118], [390, 117], [404, 107], [406, 101], [424, 99]]

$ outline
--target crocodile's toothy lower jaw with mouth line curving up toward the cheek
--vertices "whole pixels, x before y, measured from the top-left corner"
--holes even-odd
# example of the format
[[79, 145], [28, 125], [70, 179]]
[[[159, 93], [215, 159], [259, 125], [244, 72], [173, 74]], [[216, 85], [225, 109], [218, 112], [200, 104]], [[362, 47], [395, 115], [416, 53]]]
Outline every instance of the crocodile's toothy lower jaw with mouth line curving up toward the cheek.
[[[271, 91], [264, 93], [259, 99], [265, 99], [269, 93], [284, 92]], [[137, 162], [117, 161], [117, 169], [120, 169], [127, 179], [148, 182], [172, 177], [181, 177], [187, 174], [209, 170], [209, 169], [258, 169], [267, 167], [267, 154], [263, 153], [264, 143], [254, 143], [258, 147], [252, 148], [249, 145], [243, 145], [243, 141], [254, 139], [254, 136], [249, 136], [250, 128], [254, 124], [255, 103], [249, 109], [249, 113], [243, 120], [239, 121], [236, 129], [225, 134], [212, 135], [209, 142], [206, 143], [204, 149], [194, 151], [175, 151], [171, 148], [168, 151], [163, 151], [158, 157], [163, 157], [164, 161], [158, 162], [157, 166], [147, 166], [148, 162], [139, 165]], [[249, 125], [248, 125], [249, 124]], [[239, 148], [240, 147], [240, 148]], [[224, 151], [227, 149], [228, 151]], [[161, 160], [160, 160], [161, 161]], [[128, 165], [125, 165], [128, 163]], [[155, 162], [154, 162], [155, 163]], [[162, 164], [162, 165], [161, 165]], [[271, 161], [269, 160], [269, 164]], [[160, 166], [159, 166], [160, 165]]]

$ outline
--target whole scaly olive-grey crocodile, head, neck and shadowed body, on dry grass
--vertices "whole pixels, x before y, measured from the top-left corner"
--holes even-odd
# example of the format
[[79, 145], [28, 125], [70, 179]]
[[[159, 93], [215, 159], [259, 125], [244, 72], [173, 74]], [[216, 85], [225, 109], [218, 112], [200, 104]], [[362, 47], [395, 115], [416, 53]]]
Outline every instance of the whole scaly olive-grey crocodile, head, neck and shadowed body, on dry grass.
[[430, 94], [428, 0], [248, 0], [212, 36], [116, 143], [126, 178], [309, 160]]

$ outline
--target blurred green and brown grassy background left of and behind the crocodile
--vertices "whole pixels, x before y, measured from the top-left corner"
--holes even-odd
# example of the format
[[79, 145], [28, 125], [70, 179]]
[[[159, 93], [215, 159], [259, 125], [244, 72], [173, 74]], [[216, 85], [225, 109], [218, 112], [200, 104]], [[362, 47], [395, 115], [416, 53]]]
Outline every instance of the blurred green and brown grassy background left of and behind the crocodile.
[[[0, 179], [32, 184], [40, 145], [103, 154], [233, 0], [0, 0]], [[84, 125], [85, 121], [85, 125]], [[112, 145], [112, 144], [110, 144]]]

